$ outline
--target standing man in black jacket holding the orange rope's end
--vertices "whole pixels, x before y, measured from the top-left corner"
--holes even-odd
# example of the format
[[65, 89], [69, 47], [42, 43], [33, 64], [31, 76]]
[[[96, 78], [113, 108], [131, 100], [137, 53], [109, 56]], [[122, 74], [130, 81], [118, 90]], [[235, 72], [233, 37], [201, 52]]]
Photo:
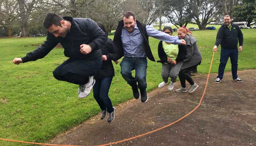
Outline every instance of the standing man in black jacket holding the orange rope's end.
[[[219, 28], [217, 38], [213, 51], [218, 52], [217, 47], [221, 44], [221, 59], [219, 64], [219, 74], [215, 80], [215, 83], [220, 83], [223, 78], [224, 70], [227, 64], [227, 60], [230, 57], [231, 71], [234, 81], [242, 82], [237, 76], [237, 63], [238, 52], [242, 51], [243, 46], [243, 34], [239, 26], [231, 23], [231, 16], [225, 15], [223, 19], [224, 24]], [[239, 42], [239, 48], [237, 49], [237, 43]]]

